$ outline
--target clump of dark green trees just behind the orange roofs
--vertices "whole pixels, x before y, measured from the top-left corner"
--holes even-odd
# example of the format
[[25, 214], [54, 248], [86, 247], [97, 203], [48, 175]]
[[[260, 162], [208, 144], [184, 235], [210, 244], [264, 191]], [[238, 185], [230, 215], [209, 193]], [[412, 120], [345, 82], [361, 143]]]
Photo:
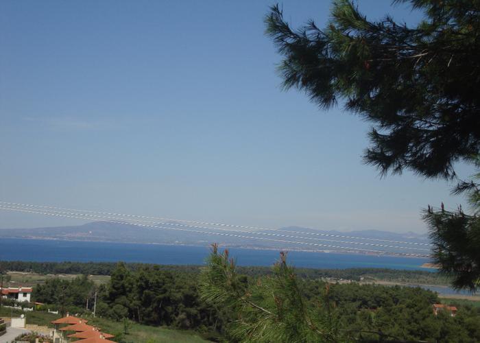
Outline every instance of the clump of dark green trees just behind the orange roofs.
[[110, 282], [99, 287], [97, 314], [180, 329], [221, 329], [217, 311], [207, 307], [197, 294], [196, 275], [163, 270], [158, 265], [131, 270], [118, 263]]

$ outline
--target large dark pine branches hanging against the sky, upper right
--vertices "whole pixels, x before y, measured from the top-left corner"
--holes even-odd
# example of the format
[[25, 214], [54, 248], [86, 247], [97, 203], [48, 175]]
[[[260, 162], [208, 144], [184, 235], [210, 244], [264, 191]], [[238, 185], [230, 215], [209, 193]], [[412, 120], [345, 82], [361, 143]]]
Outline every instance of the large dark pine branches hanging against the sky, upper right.
[[277, 5], [266, 32], [283, 56], [285, 88], [324, 108], [341, 99], [373, 123], [367, 163], [383, 174], [452, 178], [453, 164], [480, 148], [480, 1], [398, 2], [424, 20], [368, 21], [352, 1], [335, 0], [324, 29], [313, 21], [292, 29]]

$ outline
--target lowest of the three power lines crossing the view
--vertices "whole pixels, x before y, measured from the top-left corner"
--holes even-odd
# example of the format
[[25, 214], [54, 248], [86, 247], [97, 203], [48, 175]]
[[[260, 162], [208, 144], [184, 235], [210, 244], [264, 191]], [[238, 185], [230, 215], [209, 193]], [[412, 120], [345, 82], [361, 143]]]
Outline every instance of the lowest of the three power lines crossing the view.
[[[41, 211], [32, 211], [32, 210], [24, 210], [24, 209], [10, 209], [8, 207], [3, 207], [3, 210], [6, 211], [19, 211], [19, 212], [25, 212], [25, 213], [35, 213], [35, 214], [40, 214], [40, 215], [50, 215], [54, 217], [67, 217], [67, 218], [73, 218], [73, 219], [85, 219], [84, 217], [80, 217], [78, 215], [62, 215], [58, 213], [49, 213], [49, 212], [41, 212]], [[134, 226], [140, 226], [143, 228], [161, 228], [165, 230], [176, 230], [176, 231], [183, 231], [183, 232], [189, 232], [189, 233], [200, 233], [203, 235], [218, 235], [218, 236], [226, 236], [226, 237], [237, 237], [237, 238], [246, 238], [246, 239], [260, 239], [263, 241], [277, 241], [281, 243], [289, 243], [289, 244], [300, 244], [300, 245], [305, 245], [305, 246], [315, 246], [315, 247], [323, 247], [323, 248], [336, 248], [336, 249], [341, 249], [341, 250], [355, 250], [355, 251], [364, 251], [364, 252], [374, 252], [377, 254], [387, 254], [387, 255], [400, 255], [400, 256], [408, 256], [408, 257], [429, 257], [429, 255], [421, 255], [421, 254], [413, 254], [413, 253], [407, 253], [407, 252], [387, 252], [383, 250], [371, 250], [371, 249], [363, 249], [363, 248], [348, 248], [344, 246], [333, 246], [330, 244], [318, 244], [318, 243], [309, 243], [309, 242], [304, 242], [304, 241], [288, 241], [286, 239], [274, 239], [274, 238], [265, 238], [265, 237], [251, 237], [251, 236], [244, 236], [244, 235], [234, 235], [230, 233], [214, 233], [214, 232], [208, 232], [208, 231], [200, 231], [200, 230], [188, 230], [186, 228], [171, 228], [167, 226], [154, 226], [154, 225], [147, 225], [147, 224], [132, 224], [130, 222], [118, 222], [115, 220], [106, 220], [106, 219], [98, 219], [101, 222], [110, 222], [110, 223], [115, 223], [115, 224], [130, 224]]]

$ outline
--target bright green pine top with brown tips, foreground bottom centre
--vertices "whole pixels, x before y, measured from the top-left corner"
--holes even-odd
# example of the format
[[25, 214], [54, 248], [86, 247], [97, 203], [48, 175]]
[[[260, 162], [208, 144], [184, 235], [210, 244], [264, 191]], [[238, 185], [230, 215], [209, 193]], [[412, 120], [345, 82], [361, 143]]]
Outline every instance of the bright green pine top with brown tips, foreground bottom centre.
[[249, 283], [237, 274], [228, 250], [219, 254], [214, 245], [200, 274], [200, 289], [207, 303], [230, 310], [228, 333], [240, 342], [338, 342], [334, 311], [328, 302], [306, 306], [285, 253], [272, 276]]

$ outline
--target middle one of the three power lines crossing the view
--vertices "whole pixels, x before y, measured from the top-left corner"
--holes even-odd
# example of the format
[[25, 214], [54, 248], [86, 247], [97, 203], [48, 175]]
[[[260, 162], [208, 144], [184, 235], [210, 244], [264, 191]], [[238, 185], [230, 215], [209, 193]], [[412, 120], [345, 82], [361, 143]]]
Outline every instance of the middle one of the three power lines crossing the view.
[[[0, 209], [29, 209], [24, 206], [5, 206], [0, 204]], [[44, 210], [45, 211], [45, 210]], [[53, 210], [47, 210], [49, 213], [60, 213], [64, 215], [80, 215], [84, 219], [89, 219], [89, 220], [97, 220], [99, 218], [101, 219], [108, 219], [108, 220], [123, 220], [122, 218], [119, 217], [110, 217], [106, 215], [93, 215], [93, 214], [86, 214], [86, 213], [72, 213], [72, 212], [65, 212], [65, 211], [53, 211]], [[80, 211], [80, 210], [78, 210]], [[224, 231], [230, 231], [230, 232], [237, 232], [237, 233], [248, 233], [250, 235], [265, 235], [265, 236], [274, 236], [274, 237], [285, 237], [289, 239], [309, 239], [309, 240], [314, 240], [314, 241], [331, 241], [331, 242], [336, 242], [336, 243], [342, 243], [342, 244], [357, 244], [361, 246], [379, 246], [382, 248], [394, 248], [394, 249], [407, 249], [407, 250], [422, 250], [422, 251], [430, 251], [429, 249], [423, 249], [423, 248], [413, 248], [413, 247], [405, 247], [405, 246], [391, 246], [391, 245], [386, 245], [386, 244], [373, 244], [373, 243], [365, 243], [365, 242], [356, 242], [356, 241], [339, 241], [336, 239], [324, 239], [324, 238], [312, 238], [312, 237], [300, 237], [300, 236], [293, 236], [293, 235], [281, 235], [281, 234], [276, 234], [276, 233], [258, 233], [258, 232], [252, 232], [252, 231], [245, 231], [245, 230], [235, 230], [232, 228], [212, 228], [212, 227], [207, 227], [207, 226], [193, 226], [193, 225], [187, 225], [187, 224], [178, 224], [178, 223], [168, 223], [168, 222], [152, 222], [152, 221], [147, 221], [147, 220], [133, 220], [133, 219], [128, 219], [128, 222], [140, 222], [140, 223], [149, 223], [149, 224], [161, 224], [161, 225], [169, 225], [169, 226], [180, 226], [180, 227], [188, 227], [188, 228], [200, 228], [200, 229], [208, 229], [208, 230], [224, 230]]]

